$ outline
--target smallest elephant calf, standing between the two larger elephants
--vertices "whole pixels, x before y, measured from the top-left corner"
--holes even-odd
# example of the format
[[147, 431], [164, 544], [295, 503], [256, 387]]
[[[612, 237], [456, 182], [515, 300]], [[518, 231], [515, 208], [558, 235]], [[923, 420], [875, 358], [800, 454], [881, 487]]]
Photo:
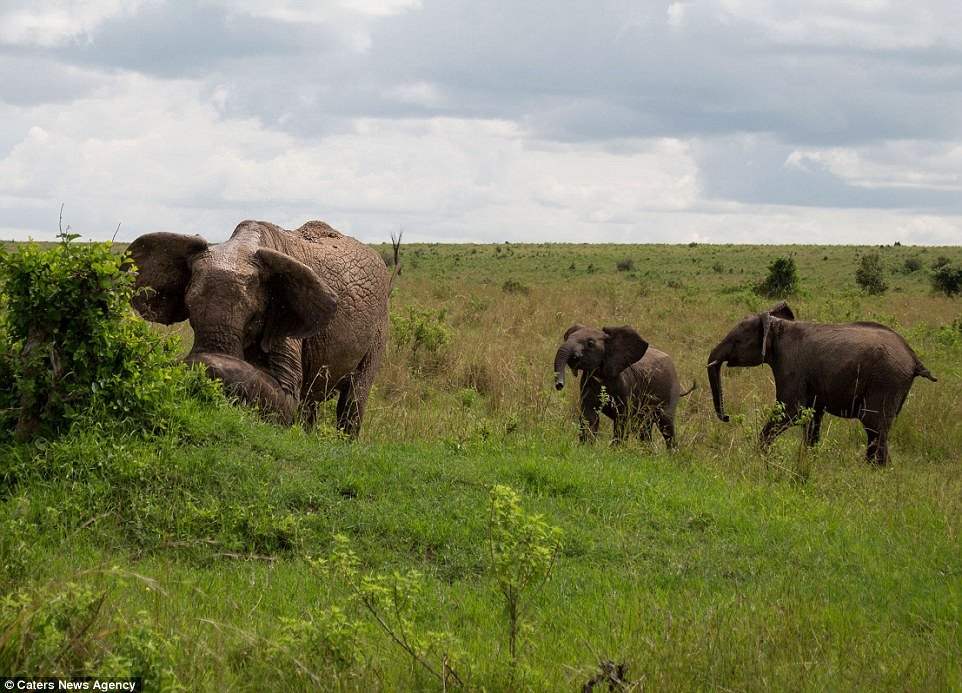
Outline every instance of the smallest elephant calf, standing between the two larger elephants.
[[[602, 412], [614, 422], [614, 440], [620, 442], [629, 426], [651, 438], [656, 423], [665, 444], [675, 445], [675, 408], [695, 386], [681, 392], [675, 365], [668, 354], [648, 346], [628, 326], [597, 330], [572, 325], [555, 355], [555, 388], [565, 385], [565, 366], [581, 371], [582, 442], [598, 432]], [[607, 398], [602, 398], [602, 387]]]

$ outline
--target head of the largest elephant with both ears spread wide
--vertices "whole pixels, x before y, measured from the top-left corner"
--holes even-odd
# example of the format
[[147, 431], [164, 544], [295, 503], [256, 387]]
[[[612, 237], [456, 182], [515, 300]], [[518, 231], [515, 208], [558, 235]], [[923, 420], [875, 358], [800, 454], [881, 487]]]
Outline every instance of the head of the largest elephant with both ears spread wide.
[[244, 359], [257, 346], [267, 353], [287, 337], [317, 334], [334, 315], [335, 294], [316, 272], [261, 247], [256, 236], [238, 236], [240, 230], [220, 245], [200, 236], [151, 233], [128, 249], [142, 289], [134, 308], [165, 325], [190, 320], [194, 346], [188, 358]]

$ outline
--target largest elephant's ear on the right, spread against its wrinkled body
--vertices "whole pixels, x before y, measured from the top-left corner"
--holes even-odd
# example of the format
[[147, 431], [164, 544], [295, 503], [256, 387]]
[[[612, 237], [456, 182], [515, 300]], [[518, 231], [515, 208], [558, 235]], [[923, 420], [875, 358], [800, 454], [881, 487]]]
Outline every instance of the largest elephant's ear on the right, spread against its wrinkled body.
[[337, 296], [317, 272], [290, 255], [261, 248], [256, 253], [267, 284], [264, 337], [261, 348], [271, 342], [316, 335], [331, 322]]

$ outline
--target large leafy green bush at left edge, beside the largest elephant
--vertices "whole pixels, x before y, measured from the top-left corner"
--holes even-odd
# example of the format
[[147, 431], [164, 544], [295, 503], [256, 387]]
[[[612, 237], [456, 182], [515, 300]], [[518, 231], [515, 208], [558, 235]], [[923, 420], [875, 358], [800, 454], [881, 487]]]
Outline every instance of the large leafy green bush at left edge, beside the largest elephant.
[[131, 306], [129, 260], [110, 243], [0, 251], [0, 395], [3, 430], [21, 438], [95, 418], [164, 428], [185, 396], [216, 396], [198, 370], [175, 365], [177, 345]]

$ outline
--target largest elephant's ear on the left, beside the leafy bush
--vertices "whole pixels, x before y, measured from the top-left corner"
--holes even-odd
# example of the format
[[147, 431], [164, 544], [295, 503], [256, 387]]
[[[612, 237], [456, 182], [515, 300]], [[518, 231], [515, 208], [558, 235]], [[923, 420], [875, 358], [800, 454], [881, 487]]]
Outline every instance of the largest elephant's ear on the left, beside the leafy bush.
[[184, 294], [190, 268], [205, 250], [207, 241], [200, 236], [179, 233], [148, 233], [131, 243], [127, 253], [137, 266], [139, 289], [131, 301], [134, 309], [147, 320], [164, 325], [186, 320]]

